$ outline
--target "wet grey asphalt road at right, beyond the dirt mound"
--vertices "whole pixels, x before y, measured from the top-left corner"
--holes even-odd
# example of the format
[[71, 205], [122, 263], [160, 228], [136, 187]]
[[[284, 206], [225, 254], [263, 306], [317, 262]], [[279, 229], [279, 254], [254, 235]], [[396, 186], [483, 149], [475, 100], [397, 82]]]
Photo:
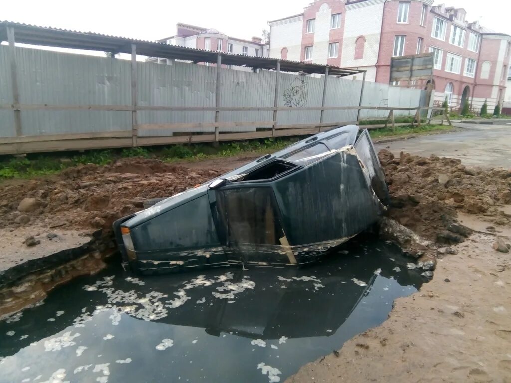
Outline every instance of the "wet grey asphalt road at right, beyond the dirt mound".
[[394, 154], [404, 151], [425, 157], [436, 154], [459, 158], [469, 166], [511, 168], [511, 121], [506, 125], [453, 125], [462, 130], [378, 143], [376, 149], [389, 147]]

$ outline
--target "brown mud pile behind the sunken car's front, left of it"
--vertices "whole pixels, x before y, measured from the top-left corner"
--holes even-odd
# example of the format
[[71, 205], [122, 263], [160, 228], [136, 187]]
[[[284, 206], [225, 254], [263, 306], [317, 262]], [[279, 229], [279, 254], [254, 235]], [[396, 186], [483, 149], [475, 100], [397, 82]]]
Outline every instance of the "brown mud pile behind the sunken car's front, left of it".
[[142, 210], [144, 200], [172, 196], [222, 173], [129, 158], [70, 167], [50, 178], [5, 181], [0, 183], [0, 227], [103, 228], [108, 234], [113, 221]]

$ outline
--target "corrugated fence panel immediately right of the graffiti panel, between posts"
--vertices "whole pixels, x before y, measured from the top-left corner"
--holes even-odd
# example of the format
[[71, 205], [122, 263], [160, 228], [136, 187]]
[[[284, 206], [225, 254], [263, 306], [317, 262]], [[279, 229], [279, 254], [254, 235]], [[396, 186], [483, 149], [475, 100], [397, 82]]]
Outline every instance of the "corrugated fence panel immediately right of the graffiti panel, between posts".
[[[325, 106], [358, 106], [362, 81], [330, 77], [327, 83]], [[323, 122], [339, 123], [357, 121], [357, 110], [326, 110]]]

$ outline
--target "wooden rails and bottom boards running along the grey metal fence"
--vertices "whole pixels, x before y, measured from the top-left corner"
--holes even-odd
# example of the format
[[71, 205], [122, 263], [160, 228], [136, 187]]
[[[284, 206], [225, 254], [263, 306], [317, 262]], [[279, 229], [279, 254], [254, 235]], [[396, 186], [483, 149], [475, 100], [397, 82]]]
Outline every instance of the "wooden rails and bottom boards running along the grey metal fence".
[[[426, 117], [428, 123], [434, 112], [440, 112], [440, 123], [444, 118], [451, 125], [449, 116], [440, 107], [374, 107], [374, 106], [338, 106], [338, 107], [169, 107], [169, 106], [143, 106], [143, 105], [27, 105], [27, 104], [0, 104], [0, 110], [13, 110], [20, 113], [22, 110], [106, 110], [106, 111], [130, 111], [132, 116], [132, 129], [110, 132], [86, 132], [66, 134], [43, 134], [43, 135], [17, 135], [13, 137], [0, 137], [0, 154], [20, 154], [32, 152], [51, 152], [66, 150], [86, 150], [103, 148], [122, 148], [149, 145], [167, 145], [172, 143], [193, 142], [219, 142], [230, 140], [243, 140], [266, 137], [284, 137], [315, 134], [329, 130], [339, 125], [359, 124], [359, 121], [339, 121], [331, 123], [311, 124], [288, 124], [278, 125], [277, 115], [282, 111], [326, 111], [326, 110], [357, 110], [357, 118], [360, 118], [361, 110], [386, 110], [387, 117], [369, 118], [373, 120], [386, 120], [383, 125], [362, 126], [368, 129], [377, 129], [390, 125], [392, 129], [397, 126], [409, 125], [396, 124], [394, 111], [408, 111], [410, 116], [415, 116], [414, 121], [421, 125], [421, 111], [431, 111]], [[215, 122], [202, 123], [169, 123], [169, 124], [137, 124], [136, 111], [142, 110], [165, 110], [165, 111], [215, 111]], [[251, 122], [220, 122], [218, 114], [221, 111], [273, 111], [272, 121]], [[221, 128], [232, 127], [256, 127], [257, 131], [251, 132], [219, 132]], [[214, 130], [212, 130], [212, 128]], [[165, 129], [173, 135], [141, 136], [138, 133], [144, 130]], [[207, 129], [207, 132], [194, 132], [196, 129]], [[195, 134], [194, 134], [195, 133]]]

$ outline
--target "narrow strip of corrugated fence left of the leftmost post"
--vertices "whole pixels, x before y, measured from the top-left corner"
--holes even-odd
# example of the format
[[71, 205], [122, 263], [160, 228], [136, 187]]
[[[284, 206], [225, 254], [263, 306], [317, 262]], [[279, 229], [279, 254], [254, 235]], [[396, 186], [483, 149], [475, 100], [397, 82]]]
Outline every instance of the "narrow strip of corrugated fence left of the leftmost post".
[[[11, 61], [9, 47], [0, 45], [0, 103], [12, 104]], [[0, 110], [0, 137], [16, 135], [14, 111]]]

